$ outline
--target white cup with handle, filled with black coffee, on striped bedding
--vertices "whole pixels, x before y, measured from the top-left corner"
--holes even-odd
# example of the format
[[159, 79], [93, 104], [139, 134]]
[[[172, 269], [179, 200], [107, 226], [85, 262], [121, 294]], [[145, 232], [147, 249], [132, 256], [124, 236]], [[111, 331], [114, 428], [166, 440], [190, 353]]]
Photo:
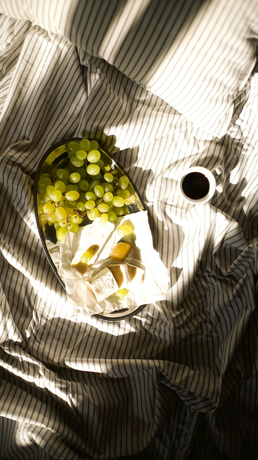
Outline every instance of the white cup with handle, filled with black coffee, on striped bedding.
[[217, 185], [215, 175], [222, 171], [221, 166], [217, 166], [212, 171], [202, 166], [185, 169], [178, 179], [181, 196], [192, 204], [202, 204], [211, 200]]

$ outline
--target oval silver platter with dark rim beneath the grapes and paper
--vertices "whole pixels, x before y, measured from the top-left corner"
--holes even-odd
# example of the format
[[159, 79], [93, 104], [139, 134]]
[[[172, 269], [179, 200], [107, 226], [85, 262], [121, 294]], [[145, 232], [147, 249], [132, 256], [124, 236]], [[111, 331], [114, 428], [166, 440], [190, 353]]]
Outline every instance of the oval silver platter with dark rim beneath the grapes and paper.
[[[38, 195], [37, 185], [38, 185], [38, 177], [41, 174], [42, 168], [44, 171], [44, 167], [47, 167], [47, 165], [52, 166], [52, 167], [57, 167], [57, 166], [64, 167], [68, 159], [67, 144], [71, 141], [79, 142], [80, 140], [82, 140], [82, 138], [64, 139], [58, 142], [57, 144], [53, 145], [52, 147], [50, 147], [44, 153], [41, 160], [39, 161], [38, 167], [36, 170], [36, 174], [35, 174], [35, 179], [34, 179], [34, 189], [33, 189], [34, 211], [35, 211], [36, 223], [38, 227], [40, 240], [41, 240], [44, 252], [46, 254], [46, 257], [49, 261], [49, 264], [51, 265], [53, 271], [55, 272], [55, 275], [57, 276], [57, 278], [59, 279], [60, 283], [62, 284], [64, 288], [66, 288], [65, 283], [60, 278], [58, 271], [57, 271], [57, 266], [55, 265], [55, 262], [52, 259], [51, 254], [49, 253], [49, 247], [50, 246], [53, 247], [55, 243], [57, 242], [56, 234], [55, 234], [55, 227], [54, 225], [49, 226], [48, 224], [46, 224], [46, 219], [44, 219], [44, 216], [42, 216], [42, 214], [38, 212], [39, 195]], [[109, 164], [111, 169], [115, 168], [119, 173], [124, 174], [125, 176], [129, 178], [129, 187], [131, 187], [132, 189], [132, 192], [135, 197], [135, 201], [132, 204], [127, 205], [128, 214], [137, 213], [139, 211], [146, 211], [147, 208], [137, 190], [137, 187], [132, 182], [132, 179], [128, 176], [128, 174], [126, 173], [124, 168], [121, 166], [121, 164], [114, 158], [113, 155], [111, 155], [107, 150], [105, 150], [101, 146], [99, 146], [99, 152], [101, 154], [100, 158], [104, 161], [105, 165]], [[84, 224], [90, 225], [91, 222], [88, 221], [88, 219], [86, 219], [86, 221], [84, 221]], [[152, 231], [152, 236], [153, 236], [153, 243], [155, 247], [153, 231]], [[106, 316], [103, 316], [101, 314], [95, 314], [93, 316], [103, 321], [121, 321], [121, 320], [130, 318], [131, 316], [137, 315], [140, 311], [143, 310], [145, 306], [146, 305], [140, 305], [138, 307], [134, 307], [133, 310], [130, 310], [129, 308], [124, 308], [122, 310], [115, 310]]]

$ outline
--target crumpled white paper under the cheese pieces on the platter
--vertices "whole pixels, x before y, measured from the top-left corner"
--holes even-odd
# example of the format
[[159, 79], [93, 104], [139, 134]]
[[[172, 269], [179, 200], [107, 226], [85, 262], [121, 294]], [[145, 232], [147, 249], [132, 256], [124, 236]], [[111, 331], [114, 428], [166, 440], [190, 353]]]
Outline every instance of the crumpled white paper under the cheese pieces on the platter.
[[[60, 243], [60, 263], [58, 272], [66, 285], [66, 295], [73, 313], [93, 315], [101, 313], [106, 315], [115, 310], [128, 308], [130, 311], [137, 306], [154, 303], [165, 298], [170, 285], [168, 271], [159, 258], [159, 253], [154, 250], [152, 233], [148, 223], [147, 211], [140, 211], [123, 217], [118, 217], [114, 222], [114, 230], [111, 232], [104, 247], [98, 254], [88, 271], [81, 274], [71, 261], [79, 247], [81, 238], [85, 238], [92, 225], [99, 225], [99, 219], [91, 225], [80, 228], [77, 233], [67, 232], [64, 240]], [[122, 236], [117, 228], [119, 225], [129, 222], [134, 226], [131, 235]], [[120, 263], [112, 259], [109, 254], [119, 240], [131, 241], [133, 248], [123, 262], [136, 265], [144, 270], [143, 284], [135, 290], [128, 291], [126, 297], [118, 298], [114, 294], [107, 299], [97, 302], [94, 294], [87, 288], [87, 280], [96, 275], [104, 267], [110, 264]], [[122, 262], [121, 262], [122, 263]]]

